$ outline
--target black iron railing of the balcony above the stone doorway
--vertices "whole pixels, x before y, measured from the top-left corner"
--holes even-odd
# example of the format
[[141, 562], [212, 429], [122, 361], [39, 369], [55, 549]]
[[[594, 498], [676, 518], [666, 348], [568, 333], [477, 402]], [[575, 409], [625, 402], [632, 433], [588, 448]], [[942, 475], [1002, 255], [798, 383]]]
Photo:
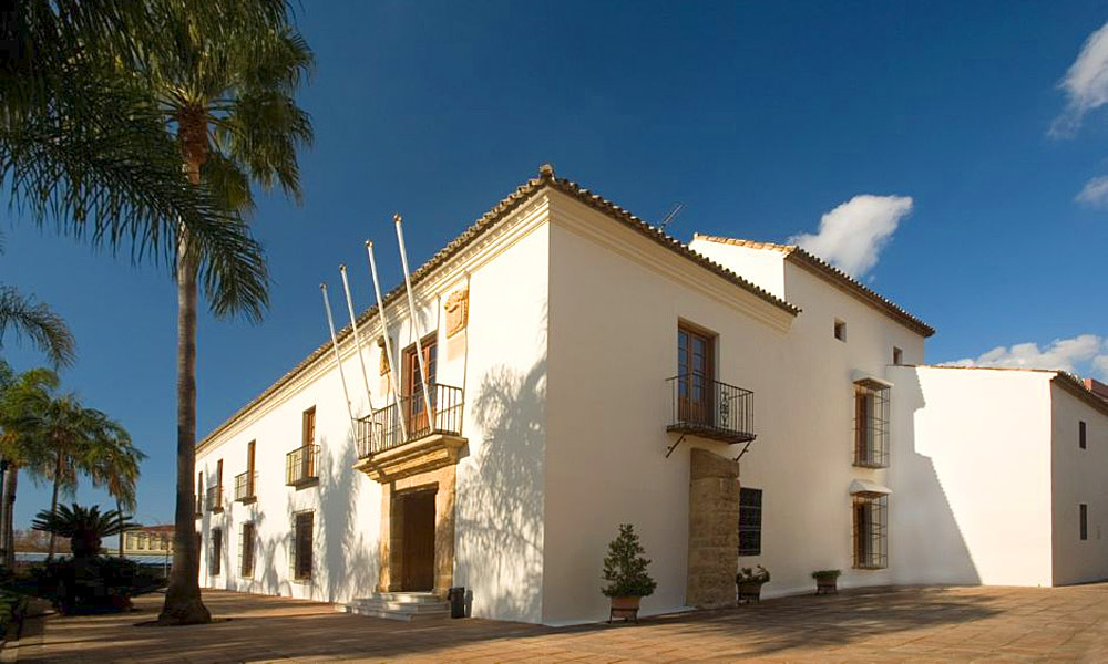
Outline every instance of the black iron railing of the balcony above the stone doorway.
[[358, 458], [366, 458], [437, 434], [461, 436], [462, 388], [432, 383], [429, 394], [430, 417], [427, 414], [423, 394], [418, 393], [414, 396], [400, 397], [399, 408], [397, 403], [390, 403], [358, 419]]

